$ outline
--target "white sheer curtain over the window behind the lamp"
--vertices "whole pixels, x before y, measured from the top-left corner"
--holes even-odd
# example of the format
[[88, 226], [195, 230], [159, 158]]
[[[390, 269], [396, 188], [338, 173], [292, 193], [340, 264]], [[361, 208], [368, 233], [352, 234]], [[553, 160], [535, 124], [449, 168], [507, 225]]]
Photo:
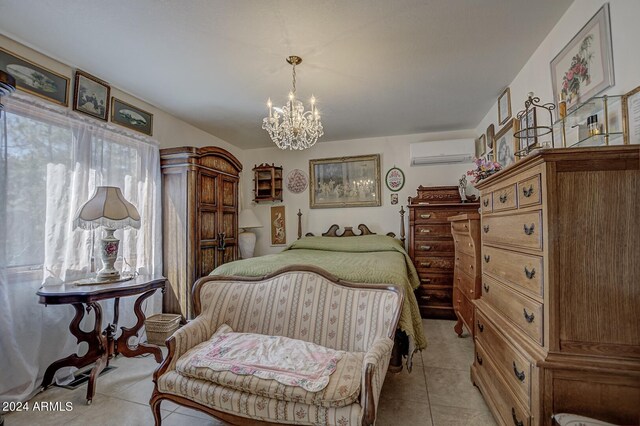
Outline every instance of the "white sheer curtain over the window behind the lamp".
[[[0, 210], [6, 223], [0, 241], [5, 272], [0, 271], [0, 401], [27, 399], [51, 362], [76, 352], [68, 330], [73, 308], [40, 305], [35, 292], [40, 285], [83, 278], [100, 268], [92, 266], [92, 254], [102, 230], [72, 224], [95, 186], [122, 188], [142, 218], [139, 230], [116, 232], [122, 241], [116, 266], [162, 273], [157, 144], [26, 95], [14, 94], [4, 103], [8, 143], [2, 158], [7, 185], [0, 185], [0, 199], [6, 200]], [[119, 327], [135, 323], [134, 300], [120, 301]], [[147, 315], [160, 310], [160, 294], [147, 299]], [[103, 312], [104, 326], [112, 320], [113, 301], [103, 303]], [[93, 314], [85, 317], [83, 329], [93, 320]]]

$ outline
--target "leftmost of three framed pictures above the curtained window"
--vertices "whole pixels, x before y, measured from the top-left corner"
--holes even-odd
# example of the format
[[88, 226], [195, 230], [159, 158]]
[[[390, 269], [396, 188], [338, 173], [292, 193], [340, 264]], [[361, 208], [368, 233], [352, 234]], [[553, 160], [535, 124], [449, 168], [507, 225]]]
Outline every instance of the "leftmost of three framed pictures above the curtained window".
[[69, 106], [70, 80], [0, 48], [0, 69], [16, 79], [18, 89], [42, 99]]

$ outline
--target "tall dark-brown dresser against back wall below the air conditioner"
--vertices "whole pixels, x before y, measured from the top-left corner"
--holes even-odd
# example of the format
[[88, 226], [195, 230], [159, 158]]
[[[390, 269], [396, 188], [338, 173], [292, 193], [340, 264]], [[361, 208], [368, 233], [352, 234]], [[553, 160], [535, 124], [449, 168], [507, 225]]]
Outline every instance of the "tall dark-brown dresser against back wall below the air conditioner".
[[418, 270], [416, 298], [422, 318], [456, 319], [453, 310], [455, 249], [449, 217], [478, 211], [462, 203], [457, 186], [418, 187], [409, 197], [409, 256]]

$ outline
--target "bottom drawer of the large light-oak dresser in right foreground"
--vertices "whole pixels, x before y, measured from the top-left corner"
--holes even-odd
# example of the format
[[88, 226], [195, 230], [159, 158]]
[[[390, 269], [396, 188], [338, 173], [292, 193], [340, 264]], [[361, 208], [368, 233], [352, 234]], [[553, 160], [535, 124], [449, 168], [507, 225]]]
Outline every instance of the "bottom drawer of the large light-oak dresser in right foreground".
[[499, 377], [498, 368], [493, 364], [482, 343], [476, 340], [476, 359], [474, 371], [479, 376], [482, 386], [480, 390], [485, 397], [493, 402], [504, 425], [530, 426], [531, 416], [529, 411], [522, 406], [518, 398], [511, 392], [508, 386]]

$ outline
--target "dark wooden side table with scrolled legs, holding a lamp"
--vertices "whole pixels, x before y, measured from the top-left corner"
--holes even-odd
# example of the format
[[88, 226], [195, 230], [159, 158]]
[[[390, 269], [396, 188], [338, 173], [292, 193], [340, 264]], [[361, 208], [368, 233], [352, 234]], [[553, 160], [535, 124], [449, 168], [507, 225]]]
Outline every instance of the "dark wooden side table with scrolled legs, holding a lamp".
[[[82, 368], [93, 362], [95, 366], [89, 376], [87, 386], [87, 404], [91, 404], [95, 394], [96, 379], [100, 372], [109, 365], [109, 359], [118, 354], [126, 357], [134, 357], [145, 353], [153, 354], [156, 362], [162, 362], [162, 352], [156, 345], [138, 343], [134, 347], [128, 344], [129, 338], [138, 335], [138, 331], [144, 324], [144, 313], [142, 312], [142, 302], [150, 297], [157, 289], [164, 292], [166, 278], [140, 275], [136, 278], [119, 283], [95, 284], [95, 285], [75, 285], [61, 284], [56, 286], [41, 287], [36, 294], [40, 297], [39, 302], [44, 305], [71, 304], [76, 310], [76, 314], [69, 325], [69, 331], [77, 339], [78, 343], [86, 342], [89, 345], [87, 353], [83, 356], [71, 354], [66, 358], [53, 362], [46, 370], [42, 380], [42, 389], [51, 385], [53, 376], [62, 367]], [[138, 321], [131, 328], [120, 327], [122, 333], [116, 337], [118, 327], [119, 302], [121, 297], [134, 296], [136, 299], [133, 311]], [[102, 330], [102, 307], [98, 303], [100, 300], [115, 299], [113, 309], [113, 322], [107, 324]], [[80, 322], [87, 314], [94, 311], [95, 323], [89, 332], [80, 329]]]

